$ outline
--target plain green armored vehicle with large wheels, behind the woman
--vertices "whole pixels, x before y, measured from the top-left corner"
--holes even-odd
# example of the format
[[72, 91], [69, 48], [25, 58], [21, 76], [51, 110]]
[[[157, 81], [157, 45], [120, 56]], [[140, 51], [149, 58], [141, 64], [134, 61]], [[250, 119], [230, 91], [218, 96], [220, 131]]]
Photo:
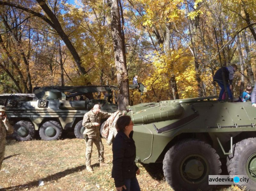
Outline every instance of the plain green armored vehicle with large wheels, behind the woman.
[[[163, 162], [174, 190], [209, 190], [208, 175], [227, 165], [230, 175], [245, 175], [256, 190], [256, 108], [251, 102], [218, 102], [214, 97], [131, 106], [136, 160]], [[222, 164], [220, 157], [227, 158]]]

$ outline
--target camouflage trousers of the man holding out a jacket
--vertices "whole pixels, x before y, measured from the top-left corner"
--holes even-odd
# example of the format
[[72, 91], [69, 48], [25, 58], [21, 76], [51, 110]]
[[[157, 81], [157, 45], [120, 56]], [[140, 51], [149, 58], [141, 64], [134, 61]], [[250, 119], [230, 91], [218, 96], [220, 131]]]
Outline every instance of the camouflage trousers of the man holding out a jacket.
[[[84, 135], [84, 137], [85, 137], [85, 135]], [[85, 139], [85, 141], [86, 141], [86, 139]], [[86, 166], [91, 165], [91, 153], [93, 152], [93, 143], [96, 145], [97, 150], [98, 150], [99, 162], [100, 163], [104, 162], [104, 146], [102, 144], [100, 136], [98, 135], [96, 137], [88, 137], [87, 142], [85, 142], [85, 145], [86, 145], [85, 165]]]

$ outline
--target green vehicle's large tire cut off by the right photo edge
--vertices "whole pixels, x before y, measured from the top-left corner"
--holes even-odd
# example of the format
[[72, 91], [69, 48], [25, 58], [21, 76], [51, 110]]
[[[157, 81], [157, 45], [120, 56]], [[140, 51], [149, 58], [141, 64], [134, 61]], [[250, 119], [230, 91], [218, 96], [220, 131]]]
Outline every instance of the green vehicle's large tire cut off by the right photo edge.
[[248, 183], [239, 184], [246, 190], [256, 190], [256, 138], [244, 139], [233, 145], [233, 154], [227, 157], [229, 175], [247, 175]]

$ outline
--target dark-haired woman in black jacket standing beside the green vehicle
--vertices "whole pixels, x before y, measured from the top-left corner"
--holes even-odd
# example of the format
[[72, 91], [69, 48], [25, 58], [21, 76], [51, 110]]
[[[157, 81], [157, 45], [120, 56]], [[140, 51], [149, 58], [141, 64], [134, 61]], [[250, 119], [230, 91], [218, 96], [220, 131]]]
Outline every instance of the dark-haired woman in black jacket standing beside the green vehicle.
[[113, 141], [112, 178], [117, 191], [140, 191], [136, 174], [140, 169], [136, 166], [136, 147], [133, 135], [133, 123], [130, 116], [121, 116], [116, 122], [117, 135]]

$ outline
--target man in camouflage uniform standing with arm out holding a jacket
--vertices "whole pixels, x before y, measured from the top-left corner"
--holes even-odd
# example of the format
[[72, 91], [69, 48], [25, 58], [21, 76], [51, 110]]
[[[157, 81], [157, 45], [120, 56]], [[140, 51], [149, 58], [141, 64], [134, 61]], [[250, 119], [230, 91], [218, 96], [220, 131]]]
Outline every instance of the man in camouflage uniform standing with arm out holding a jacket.
[[102, 118], [108, 118], [111, 115], [111, 113], [102, 112], [99, 104], [94, 105], [93, 109], [84, 115], [82, 124], [85, 127], [83, 134], [86, 141], [85, 157], [86, 170], [88, 172], [93, 173], [93, 169], [91, 168], [91, 152], [93, 151], [93, 143], [97, 146], [100, 166], [102, 167], [107, 165], [104, 163], [104, 146], [100, 138], [99, 126]]

